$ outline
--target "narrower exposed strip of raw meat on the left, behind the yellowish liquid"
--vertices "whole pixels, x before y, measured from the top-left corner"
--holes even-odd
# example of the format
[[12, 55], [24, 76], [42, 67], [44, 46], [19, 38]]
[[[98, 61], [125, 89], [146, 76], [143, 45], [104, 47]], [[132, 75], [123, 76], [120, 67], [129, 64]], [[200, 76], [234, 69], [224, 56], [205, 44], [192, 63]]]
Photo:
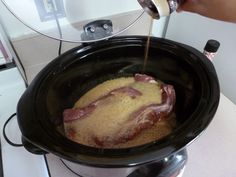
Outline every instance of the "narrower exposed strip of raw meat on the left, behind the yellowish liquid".
[[99, 97], [97, 100], [93, 101], [88, 106], [82, 108], [65, 109], [63, 112], [64, 122], [71, 122], [77, 119], [88, 117], [96, 109], [97, 105], [101, 104], [101, 102], [103, 102], [104, 100], [106, 100], [111, 96], [114, 96], [117, 93], [127, 94], [133, 99], [136, 98], [137, 96], [142, 95], [140, 91], [132, 87], [121, 87], [114, 89], [109, 93], [107, 93], [106, 95]]

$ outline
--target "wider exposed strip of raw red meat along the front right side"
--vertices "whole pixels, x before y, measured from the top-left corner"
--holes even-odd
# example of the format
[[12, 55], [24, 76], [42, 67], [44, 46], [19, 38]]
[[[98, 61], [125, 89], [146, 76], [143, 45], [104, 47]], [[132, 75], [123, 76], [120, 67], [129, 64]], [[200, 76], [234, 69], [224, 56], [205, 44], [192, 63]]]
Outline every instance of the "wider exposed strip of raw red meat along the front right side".
[[162, 103], [144, 106], [132, 113], [122, 128], [114, 135], [94, 136], [94, 142], [103, 148], [132, 140], [143, 130], [152, 127], [157, 121], [168, 116], [175, 104], [175, 91], [171, 85], [162, 84]]

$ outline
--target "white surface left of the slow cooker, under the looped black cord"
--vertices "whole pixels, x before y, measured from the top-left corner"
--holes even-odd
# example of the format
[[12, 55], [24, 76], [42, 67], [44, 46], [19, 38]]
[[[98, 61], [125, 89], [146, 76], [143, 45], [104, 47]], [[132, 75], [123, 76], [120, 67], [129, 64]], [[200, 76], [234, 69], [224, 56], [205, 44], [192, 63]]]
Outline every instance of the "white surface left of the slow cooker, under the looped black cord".
[[[3, 124], [16, 112], [24, 90], [25, 84], [17, 68], [0, 71], [0, 139], [4, 177], [48, 177], [43, 156], [30, 154], [24, 147], [9, 145], [2, 135]], [[9, 122], [6, 134], [14, 143], [21, 143], [16, 118]]]

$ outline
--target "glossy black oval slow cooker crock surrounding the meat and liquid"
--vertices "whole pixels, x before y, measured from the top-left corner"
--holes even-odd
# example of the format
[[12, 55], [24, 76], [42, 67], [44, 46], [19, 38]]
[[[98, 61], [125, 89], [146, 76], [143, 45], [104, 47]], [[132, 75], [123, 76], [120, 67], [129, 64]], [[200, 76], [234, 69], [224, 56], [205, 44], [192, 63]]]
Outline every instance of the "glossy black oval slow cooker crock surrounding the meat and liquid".
[[197, 138], [219, 104], [216, 71], [198, 50], [154, 37], [145, 73], [175, 87], [179, 125], [172, 134], [134, 148], [97, 149], [72, 142], [57, 129], [62, 125], [63, 110], [87, 90], [107, 79], [142, 72], [146, 41], [145, 36], [116, 37], [81, 45], [50, 62], [17, 106], [25, 147], [83, 165], [128, 167], [162, 160]]

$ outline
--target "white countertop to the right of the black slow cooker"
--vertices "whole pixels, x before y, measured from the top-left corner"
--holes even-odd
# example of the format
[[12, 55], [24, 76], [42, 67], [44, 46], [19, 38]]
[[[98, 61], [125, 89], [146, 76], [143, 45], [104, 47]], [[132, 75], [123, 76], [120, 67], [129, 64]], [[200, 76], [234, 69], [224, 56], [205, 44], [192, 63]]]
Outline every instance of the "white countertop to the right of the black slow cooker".
[[236, 177], [236, 105], [223, 94], [213, 121], [187, 150], [183, 177]]

